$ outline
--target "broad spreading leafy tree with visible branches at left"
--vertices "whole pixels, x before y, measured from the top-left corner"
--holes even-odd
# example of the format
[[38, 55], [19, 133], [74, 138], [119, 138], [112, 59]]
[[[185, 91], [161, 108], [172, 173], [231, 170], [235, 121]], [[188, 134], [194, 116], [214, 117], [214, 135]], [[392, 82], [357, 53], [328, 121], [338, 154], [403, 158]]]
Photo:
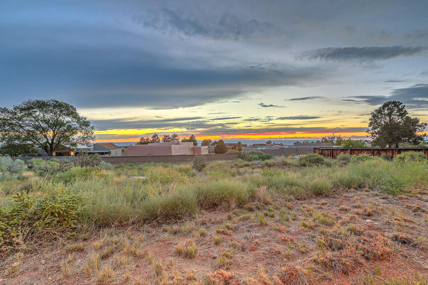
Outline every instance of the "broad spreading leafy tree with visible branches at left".
[[1, 142], [34, 145], [52, 156], [60, 147], [75, 147], [93, 140], [91, 122], [65, 102], [28, 100], [11, 109], [0, 108]]

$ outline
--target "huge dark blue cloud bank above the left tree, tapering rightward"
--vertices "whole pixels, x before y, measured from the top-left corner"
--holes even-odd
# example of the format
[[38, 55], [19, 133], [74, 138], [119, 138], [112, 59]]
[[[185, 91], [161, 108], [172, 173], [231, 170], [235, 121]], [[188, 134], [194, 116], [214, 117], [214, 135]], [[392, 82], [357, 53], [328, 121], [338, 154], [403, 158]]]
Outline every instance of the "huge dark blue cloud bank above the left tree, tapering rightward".
[[[25, 32], [30, 33], [29, 29]], [[2, 105], [54, 97], [77, 107], [169, 109], [218, 102], [255, 88], [318, 80], [316, 68], [284, 66], [282, 73], [272, 73], [239, 66], [174, 66], [174, 57], [113, 43], [94, 49], [92, 45], [98, 43], [91, 43], [92, 34], [103, 32], [86, 33], [88, 46], [55, 41], [50, 48], [39, 47], [40, 43], [31, 46], [40, 39], [10, 40], [0, 45], [0, 54], [7, 54], [0, 67]], [[11, 34], [3, 35], [13, 39]]]

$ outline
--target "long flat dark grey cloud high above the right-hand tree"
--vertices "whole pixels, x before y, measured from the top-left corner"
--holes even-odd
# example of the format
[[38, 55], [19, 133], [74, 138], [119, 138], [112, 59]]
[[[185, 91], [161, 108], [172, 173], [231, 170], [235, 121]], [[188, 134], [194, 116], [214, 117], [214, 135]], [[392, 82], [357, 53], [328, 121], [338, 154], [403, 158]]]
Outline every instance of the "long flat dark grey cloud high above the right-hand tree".
[[427, 50], [427, 47], [327, 47], [306, 51], [300, 57], [309, 60], [320, 59], [364, 63], [400, 56], [414, 56], [425, 50]]

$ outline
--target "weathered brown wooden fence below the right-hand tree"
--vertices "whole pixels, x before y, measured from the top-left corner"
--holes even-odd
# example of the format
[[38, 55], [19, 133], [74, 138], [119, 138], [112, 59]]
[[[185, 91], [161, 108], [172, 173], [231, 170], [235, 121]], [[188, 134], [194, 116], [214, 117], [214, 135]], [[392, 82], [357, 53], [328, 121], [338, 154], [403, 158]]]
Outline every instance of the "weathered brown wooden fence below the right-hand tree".
[[423, 152], [428, 158], [428, 148], [314, 147], [314, 153], [330, 158], [336, 158], [341, 153], [351, 155], [370, 154], [374, 156], [386, 153], [392, 157], [406, 151]]

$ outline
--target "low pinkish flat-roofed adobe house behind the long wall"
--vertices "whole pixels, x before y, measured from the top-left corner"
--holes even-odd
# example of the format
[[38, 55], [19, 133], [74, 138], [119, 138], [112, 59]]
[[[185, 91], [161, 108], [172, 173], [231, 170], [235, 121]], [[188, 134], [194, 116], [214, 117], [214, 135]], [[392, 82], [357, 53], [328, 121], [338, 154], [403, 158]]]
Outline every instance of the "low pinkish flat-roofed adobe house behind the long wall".
[[155, 142], [128, 145], [125, 156], [208, 154], [208, 146], [195, 146], [193, 142]]

